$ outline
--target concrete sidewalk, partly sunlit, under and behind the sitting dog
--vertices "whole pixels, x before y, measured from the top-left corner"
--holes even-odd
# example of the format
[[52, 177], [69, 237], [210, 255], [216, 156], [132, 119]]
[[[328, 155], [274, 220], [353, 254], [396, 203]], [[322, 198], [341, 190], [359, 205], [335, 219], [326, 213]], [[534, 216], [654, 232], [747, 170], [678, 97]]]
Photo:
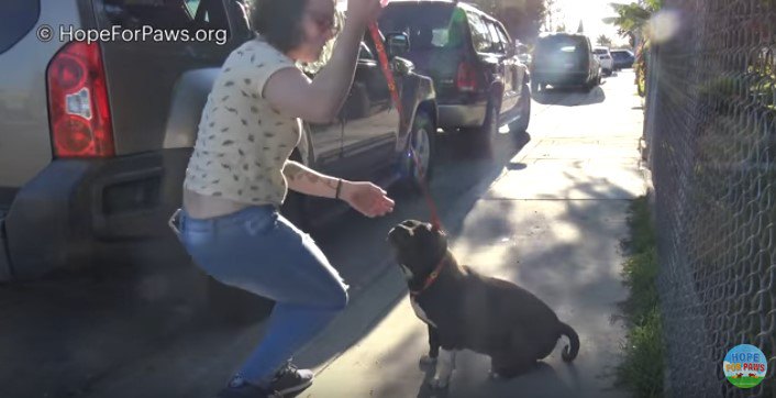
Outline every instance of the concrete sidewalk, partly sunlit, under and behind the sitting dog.
[[419, 366], [425, 327], [390, 267], [296, 356], [317, 369], [302, 397], [628, 396], [612, 388], [611, 374], [624, 336], [617, 316], [627, 295], [619, 242], [629, 200], [645, 191], [638, 151], [643, 117], [632, 81], [624, 73], [591, 93], [540, 97], [529, 145], [474, 206], [443, 217], [457, 232], [452, 248], [462, 264], [528, 288], [576, 329], [573, 364], [561, 360], [563, 339], [539, 371], [491, 382], [489, 358], [464, 352], [448, 389], [430, 390], [424, 379], [433, 369]]

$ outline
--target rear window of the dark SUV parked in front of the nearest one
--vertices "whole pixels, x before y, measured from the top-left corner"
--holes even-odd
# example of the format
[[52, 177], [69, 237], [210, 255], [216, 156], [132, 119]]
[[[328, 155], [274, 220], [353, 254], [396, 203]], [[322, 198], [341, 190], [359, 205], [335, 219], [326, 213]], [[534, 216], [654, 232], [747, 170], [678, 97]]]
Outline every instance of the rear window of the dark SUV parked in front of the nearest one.
[[383, 32], [407, 34], [410, 51], [461, 47], [464, 23], [457, 8], [422, 3], [389, 3], [379, 20]]

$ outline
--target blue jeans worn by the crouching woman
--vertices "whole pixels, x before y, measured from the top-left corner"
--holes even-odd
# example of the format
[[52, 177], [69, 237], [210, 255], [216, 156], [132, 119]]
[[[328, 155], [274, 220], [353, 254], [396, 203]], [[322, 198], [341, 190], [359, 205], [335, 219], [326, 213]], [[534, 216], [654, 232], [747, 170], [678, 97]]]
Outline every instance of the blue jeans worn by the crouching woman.
[[180, 239], [214, 279], [275, 300], [266, 334], [237, 373], [267, 385], [347, 305], [347, 285], [312, 239], [273, 206], [212, 219], [180, 212]]

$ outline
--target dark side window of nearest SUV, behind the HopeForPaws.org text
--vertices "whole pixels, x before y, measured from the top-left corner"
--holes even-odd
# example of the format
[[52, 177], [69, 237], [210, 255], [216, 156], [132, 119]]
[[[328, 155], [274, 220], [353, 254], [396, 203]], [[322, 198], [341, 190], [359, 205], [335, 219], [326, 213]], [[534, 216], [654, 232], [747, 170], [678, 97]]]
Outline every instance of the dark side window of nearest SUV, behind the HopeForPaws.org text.
[[111, 25], [123, 29], [229, 30], [224, 2], [213, 0], [106, 0]]

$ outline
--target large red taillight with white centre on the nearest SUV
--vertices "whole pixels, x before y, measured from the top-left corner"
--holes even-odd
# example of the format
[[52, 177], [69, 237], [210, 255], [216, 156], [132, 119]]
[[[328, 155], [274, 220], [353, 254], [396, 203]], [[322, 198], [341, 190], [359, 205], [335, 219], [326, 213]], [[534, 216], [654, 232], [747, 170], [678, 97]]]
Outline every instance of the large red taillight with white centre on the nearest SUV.
[[48, 117], [57, 157], [114, 155], [100, 47], [70, 42], [48, 65]]

